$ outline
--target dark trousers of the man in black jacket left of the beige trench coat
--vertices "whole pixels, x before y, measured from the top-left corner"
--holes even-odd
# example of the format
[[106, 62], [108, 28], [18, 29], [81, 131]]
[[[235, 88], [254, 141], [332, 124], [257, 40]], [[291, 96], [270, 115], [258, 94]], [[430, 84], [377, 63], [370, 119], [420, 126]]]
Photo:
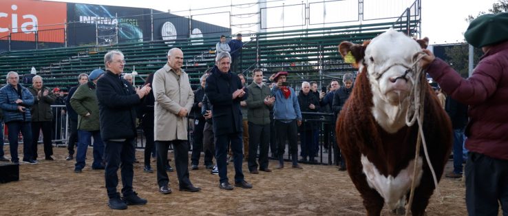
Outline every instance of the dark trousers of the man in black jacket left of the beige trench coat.
[[134, 194], [132, 179], [134, 178], [134, 138], [123, 142], [105, 141], [106, 170], [104, 172], [107, 196], [109, 199], [120, 197], [116, 192], [118, 186], [118, 168], [122, 176], [122, 194], [124, 197]]

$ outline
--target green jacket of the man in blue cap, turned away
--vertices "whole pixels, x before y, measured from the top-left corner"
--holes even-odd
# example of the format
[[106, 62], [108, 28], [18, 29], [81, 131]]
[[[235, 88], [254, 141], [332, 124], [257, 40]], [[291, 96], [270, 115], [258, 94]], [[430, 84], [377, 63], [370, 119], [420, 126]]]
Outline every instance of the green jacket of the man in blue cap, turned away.
[[[98, 131], [100, 129], [98, 100], [95, 91], [95, 83], [89, 81], [85, 85], [80, 85], [72, 95], [70, 104], [78, 114], [78, 130]], [[86, 116], [88, 113], [90, 115]]]

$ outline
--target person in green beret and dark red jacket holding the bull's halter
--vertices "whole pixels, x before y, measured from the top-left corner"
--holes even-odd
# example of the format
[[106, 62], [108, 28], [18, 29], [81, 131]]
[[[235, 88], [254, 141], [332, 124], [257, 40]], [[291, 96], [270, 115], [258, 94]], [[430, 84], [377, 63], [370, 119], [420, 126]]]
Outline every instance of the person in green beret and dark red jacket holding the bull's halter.
[[464, 80], [429, 50], [421, 66], [448, 96], [469, 105], [465, 165], [469, 215], [508, 215], [508, 13], [484, 14], [469, 24], [467, 43], [484, 52]]

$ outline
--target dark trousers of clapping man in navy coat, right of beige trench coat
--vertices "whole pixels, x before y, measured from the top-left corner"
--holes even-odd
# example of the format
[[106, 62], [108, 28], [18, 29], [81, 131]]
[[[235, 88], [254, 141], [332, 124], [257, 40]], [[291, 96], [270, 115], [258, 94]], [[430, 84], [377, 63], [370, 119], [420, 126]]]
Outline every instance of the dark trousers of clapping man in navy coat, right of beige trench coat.
[[244, 180], [242, 172], [243, 160], [243, 142], [242, 131], [228, 134], [215, 134], [215, 158], [219, 169], [220, 183], [228, 182], [228, 168], [226, 166], [228, 143], [231, 141], [231, 151], [233, 151], [233, 164], [235, 165], [235, 182]]

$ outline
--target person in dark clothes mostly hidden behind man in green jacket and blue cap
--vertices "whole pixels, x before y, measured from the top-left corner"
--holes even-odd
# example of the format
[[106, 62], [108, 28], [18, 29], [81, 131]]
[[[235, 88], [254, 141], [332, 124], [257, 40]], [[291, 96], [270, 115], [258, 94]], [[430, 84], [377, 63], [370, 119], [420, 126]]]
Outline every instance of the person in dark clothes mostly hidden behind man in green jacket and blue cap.
[[65, 160], [74, 159], [74, 145], [76, 142], [78, 142], [78, 114], [76, 114], [76, 111], [72, 109], [72, 106], [70, 105], [70, 99], [72, 98], [72, 95], [74, 95], [74, 92], [76, 92], [76, 89], [85, 83], [88, 83], [88, 74], [79, 74], [78, 85], [72, 87], [69, 90], [67, 97], [65, 97], [65, 109], [67, 109], [70, 125], [70, 136], [67, 140], [67, 151], [69, 151], [69, 155], [67, 155]]

